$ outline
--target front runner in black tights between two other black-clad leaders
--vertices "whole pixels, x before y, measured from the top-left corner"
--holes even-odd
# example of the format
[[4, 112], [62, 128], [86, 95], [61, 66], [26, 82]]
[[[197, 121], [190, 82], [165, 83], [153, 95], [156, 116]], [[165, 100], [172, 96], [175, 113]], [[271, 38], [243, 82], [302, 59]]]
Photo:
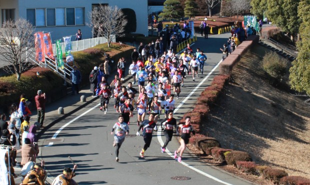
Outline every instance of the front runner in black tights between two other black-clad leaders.
[[[163, 123], [163, 127], [162, 127]], [[163, 134], [166, 137], [166, 141], [164, 142], [161, 148], [161, 152], [165, 152], [166, 146], [168, 145], [169, 141], [172, 139], [173, 135], [173, 126], [176, 128], [176, 119], [173, 118], [173, 110], [168, 110], [168, 118], [164, 118], [160, 122], [160, 128], [163, 130]]]

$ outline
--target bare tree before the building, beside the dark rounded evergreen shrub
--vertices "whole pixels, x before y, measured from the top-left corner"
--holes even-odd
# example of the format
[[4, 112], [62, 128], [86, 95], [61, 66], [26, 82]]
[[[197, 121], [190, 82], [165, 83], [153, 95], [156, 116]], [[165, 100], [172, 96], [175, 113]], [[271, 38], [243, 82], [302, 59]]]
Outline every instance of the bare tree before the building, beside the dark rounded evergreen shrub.
[[127, 24], [125, 15], [117, 6], [99, 5], [88, 14], [90, 24], [88, 26], [96, 29], [97, 35], [107, 39], [107, 46], [110, 47], [112, 36], [123, 36], [124, 27]]

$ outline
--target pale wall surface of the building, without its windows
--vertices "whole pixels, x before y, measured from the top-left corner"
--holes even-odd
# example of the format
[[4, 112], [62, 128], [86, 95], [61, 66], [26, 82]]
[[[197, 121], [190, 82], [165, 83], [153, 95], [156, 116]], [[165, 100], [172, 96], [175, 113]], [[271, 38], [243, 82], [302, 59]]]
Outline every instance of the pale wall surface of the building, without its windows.
[[[91, 11], [91, 4], [108, 3], [119, 8], [131, 8], [136, 13], [137, 28], [136, 33], [147, 35], [147, 0], [0, 0], [1, 8], [15, 8], [15, 17], [26, 18], [27, 8], [69, 8], [84, 7], [85, 25], [73, 26], [43, 26], [35, 27], [35, 31], [51, 32], [52, 40], [62, 38], [62, 36], [75, 35], [77, 29], [81, 29], [82, 38], [91, 38], [91, 28], [88, 13]], [[75, 39], [72, 36], [71, 39]]]

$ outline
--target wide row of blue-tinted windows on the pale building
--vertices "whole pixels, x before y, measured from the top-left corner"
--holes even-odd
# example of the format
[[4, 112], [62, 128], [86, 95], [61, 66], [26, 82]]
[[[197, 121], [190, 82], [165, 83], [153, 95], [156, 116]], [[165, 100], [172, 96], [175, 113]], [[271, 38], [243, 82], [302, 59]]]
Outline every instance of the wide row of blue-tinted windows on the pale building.
[[26, 16], [27, 20], [32, 23], [33, 26], [61, 26], [84, 24], [84, 8], [82, 7], [27, 9]]

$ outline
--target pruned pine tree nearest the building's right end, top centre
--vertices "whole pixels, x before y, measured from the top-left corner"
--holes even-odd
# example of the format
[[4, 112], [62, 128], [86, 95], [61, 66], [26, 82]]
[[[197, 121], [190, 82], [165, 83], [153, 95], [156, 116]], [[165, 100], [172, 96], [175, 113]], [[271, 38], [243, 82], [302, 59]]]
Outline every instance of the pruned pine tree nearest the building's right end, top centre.
[[180, 19], [183, 17], [183, 9], [179, 0], [166, 0], [163, 3], [162, 12], [159, 13], [159, 20]]

